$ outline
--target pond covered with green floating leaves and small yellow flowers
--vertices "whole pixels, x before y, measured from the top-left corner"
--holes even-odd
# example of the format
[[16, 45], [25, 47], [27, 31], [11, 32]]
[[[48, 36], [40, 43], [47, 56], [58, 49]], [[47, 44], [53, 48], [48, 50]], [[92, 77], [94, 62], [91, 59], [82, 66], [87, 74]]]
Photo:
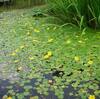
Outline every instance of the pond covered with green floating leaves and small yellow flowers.
[[0, 14], [0, 99], [99, 99], [100, 32], [50, 24], [38, 11]]

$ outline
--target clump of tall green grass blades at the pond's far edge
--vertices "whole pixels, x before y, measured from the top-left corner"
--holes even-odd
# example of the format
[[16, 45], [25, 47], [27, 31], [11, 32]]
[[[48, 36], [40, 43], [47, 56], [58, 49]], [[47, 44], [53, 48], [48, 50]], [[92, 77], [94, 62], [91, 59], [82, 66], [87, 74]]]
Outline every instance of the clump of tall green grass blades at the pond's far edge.
[[49, 13], [80, 28], [100, 27], [100, 0], [46, 0]]

